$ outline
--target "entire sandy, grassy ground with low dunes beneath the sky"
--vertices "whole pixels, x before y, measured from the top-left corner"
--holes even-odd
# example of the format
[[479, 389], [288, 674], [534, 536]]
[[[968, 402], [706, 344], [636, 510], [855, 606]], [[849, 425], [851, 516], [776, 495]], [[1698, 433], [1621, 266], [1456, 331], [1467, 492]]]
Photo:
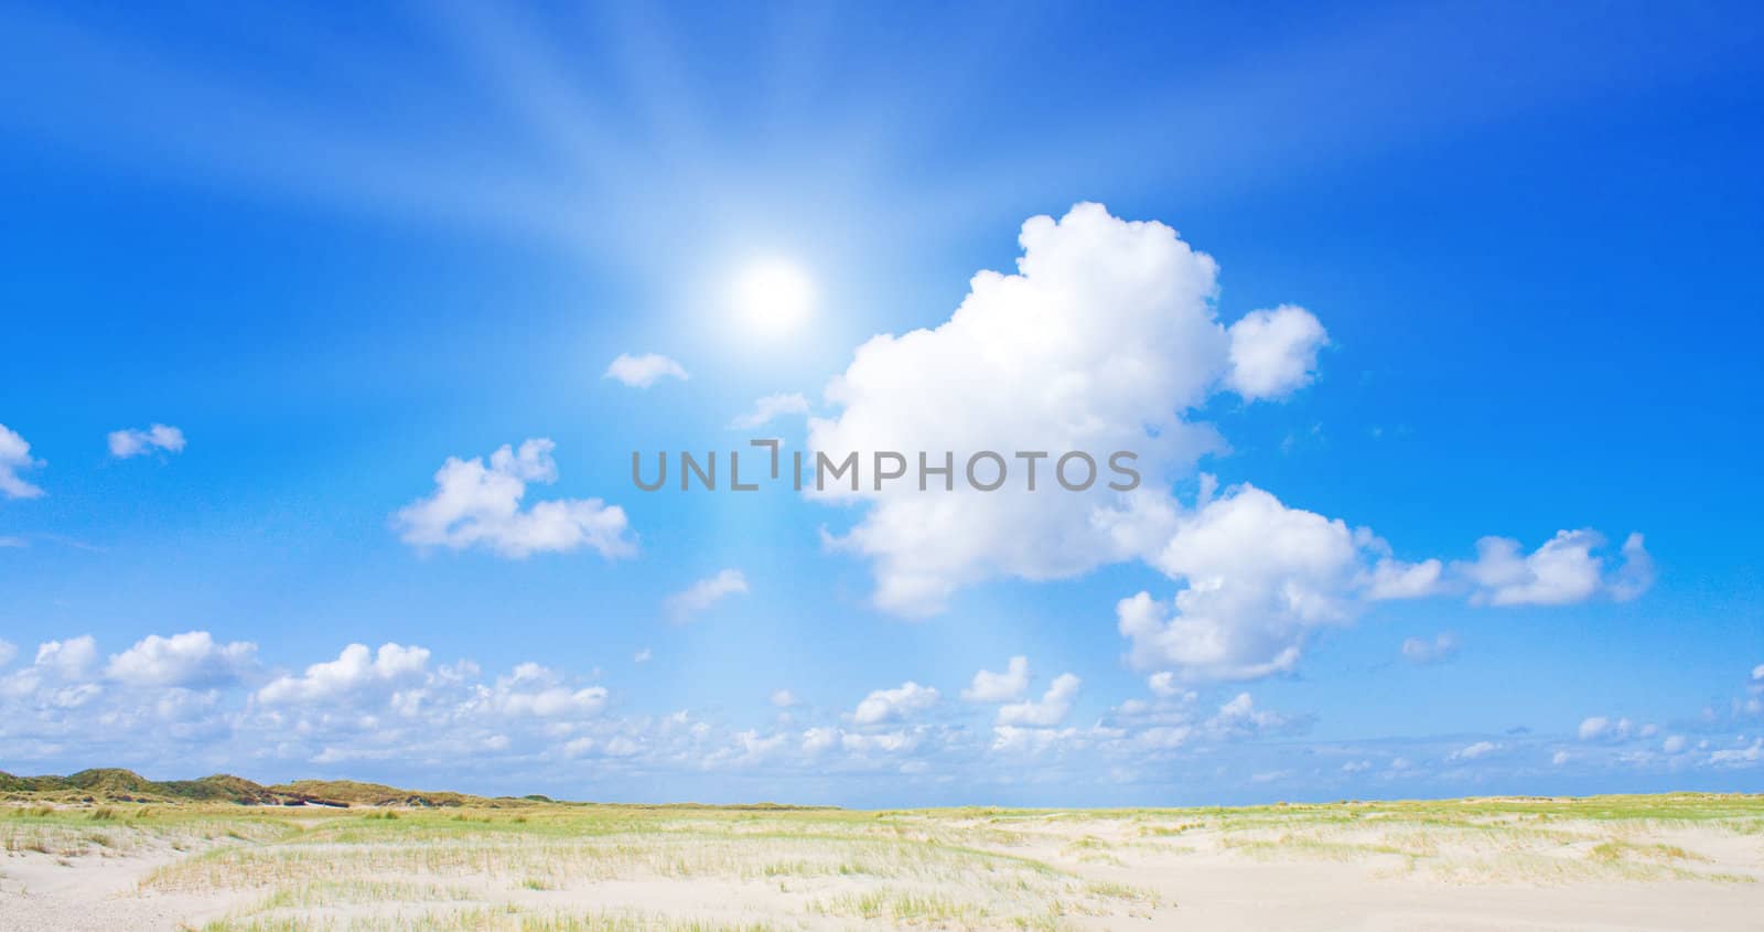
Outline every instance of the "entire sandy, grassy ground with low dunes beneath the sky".
[[[145, 801], [143, 801], [145, 800]], [[1764, 796], [1011, 810], [0, 775], [0, 930], [1759, 928]]]

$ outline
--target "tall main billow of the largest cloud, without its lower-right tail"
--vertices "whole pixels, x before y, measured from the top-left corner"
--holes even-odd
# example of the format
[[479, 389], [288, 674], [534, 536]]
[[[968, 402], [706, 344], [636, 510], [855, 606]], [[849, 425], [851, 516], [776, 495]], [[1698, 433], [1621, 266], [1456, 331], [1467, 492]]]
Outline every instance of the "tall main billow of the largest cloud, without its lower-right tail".
[[[1150, 489], [1215, 447], [1210, 429], [1182, 420], [1228, 367], [1212, 258], [1164, 224], [1118, 221], [1094, 203], [1060, 221], [1032, 217], [1020, 242], [1018, 274], [974, 275], [935, 330], [857, 348], [826, 388], [838, 415], [810, 418], [808, 447], [824, 452], [926, 452], [931, 466], [946, 450], [1051, 454], [1039, 492], [1027, 491], [1027, 461], [1011, 462], [995, 492], [919, 492], [917, 462], [914, 478], [882, 492], [863, 484], [856, 496], [870, 510], [840, 545], [873, 561], [887, 611], [931, 614], [979, 579], [1065, 577], [1134, 556], [1155, 537], [1164, 496]], [[1097, 457], [1087, 492], [1055, 487], [1055, 457], [1071, 450]], [[1106, 461], [1115, 450], [1138, 452], [1147, 494], [1106, 487], [1118, 478]], [[1081, 462], [1069, 471], [1085, 478]]]

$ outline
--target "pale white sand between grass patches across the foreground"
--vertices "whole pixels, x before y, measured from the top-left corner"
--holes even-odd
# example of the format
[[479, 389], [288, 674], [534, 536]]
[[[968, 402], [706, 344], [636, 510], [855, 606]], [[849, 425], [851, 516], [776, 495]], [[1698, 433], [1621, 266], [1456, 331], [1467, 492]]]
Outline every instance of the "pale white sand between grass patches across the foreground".
[[[1425, 823], [1379, 826], [1376, 821], [1351, 826], [1304, 821], [1254, 828], [1162, 826], [1155, 819], [1118, 814], [1004, 821], [926, 814], [900, 819], [903, 837], [923, 830], [924, 837], [935, 833], [938, 842], [960, 846], [960, 851], [977, 849], [981, 858], [993, 853], [1005, 856], [1005, 867], [1032, 858], [1055, 868], [1046, 872], [1035, 867], [1037, 876], [1053, 877], [1048, 883], [1062, 891], [1060, 923], [1076, 928], [1764, 928], [1764, 833], [1730, 824], [1630, 823], [1614, 828], [1554, 821], [1547, 831], [1526, 833], [1506, 831], [1499, 824], [1468, 830]], [[702, 821], [691, 824], [704, 826]], [[873, 831], [873, 824], [850, 824]], [[556, 884], [531, 890], [512, 881], [519, 872], [497, 870], [473, 874], [471, 868], [448, 868], [432, 876], [381, 870], [374, 877], [434, 884], [434, 890], [445, 886], [459, 902], [512, 904], [540, 914], [591, 911], [669, 921], [766, 921], [778, 928], [963, 928], [1009, 927], [1014, 921], [1005, 909], [1009, 904], [998, 906], [998, 890], [972, 891], [974, 902], [988, 909], [967, 916], [901, 918], [882, 913], [866, 918], [850, 907], [866, 893], [914, 890], [960, 900], [965, 895], [960, 884], [967, 881], [951, 876], [949, 883], [956, 886], [938, 886], [942, 881], [935, 870], [847, 877], [836, 870], [804, 868], [797, 876], [789, 865], [820, 851], [808, 846], [838, 846], [841, 840], [827, 842], [822, 835], [803, 842], [776, 840], [743, 831], [753, 831], [751, 823], [729, 823], [729, 835], [714, 840], [730, 846], [732, 860], [713, 867], [681, 867], [679, 876], [669, 876], [669, 854], [653, 861], [639, 856], [633, 861], [637, 867], [619, 867], [617, 876], [563, 876]], [[633, 835], [617, 844], [642, 847], [644, 838]], [[1602, 856], [1600, 838], [1616, 838], [1621, 846], [1618, 856]], [[0, 858], [0, 930], [175, 930], [199, 928], [228, 916], [349, 921], [409, 914], [404, 906], [423, 907], [365, 897], [333, 904], [323, 893], [316, 900], [309, 893], [307, 900], [296, 900], [295, 913], [288, 907], [273, 916], [252, 913], [258, 909], [252, 904], [265, 898], [265, 884], [282, 883], [279, 872], [238, 888], [187, 890], [168, 884], [164, 877], [143, 884], [155, 868], [198, 856], [203, 849], [263, 844], [219, 837], [173, 851], [148, 838], [125, 846], [125, 851], [11, 851]], [[450, 842], [427, 838], [418, 844], [434, 847]], [[522, 842], [499, 837], [496, 844]], [[399, 851], [406, 849], [409, 846]], [[325, 854], [312, 858], [323, 867], [332, 853], [349, 858], [358, 849], [326, 842], [309, 851]], [[841, 851], [831, 856], [850, 858]], [[663, 870], [647, 870], [646, 863], [662, 863]], [[776, 874], [759, 870], [759, 865], [769, 863], [785, 867]], [[983, 865], [981, 870], [997, 868]], [[1083, 893], [1120, 888], [1132, 888], [1134, 893]], [[1039, 906], [1035, 895], [1025, 895], [1030, 906]], [[847, 906], [838, 906], [841, 902]], [[457, 907], [439, 898], [434, 906]]]

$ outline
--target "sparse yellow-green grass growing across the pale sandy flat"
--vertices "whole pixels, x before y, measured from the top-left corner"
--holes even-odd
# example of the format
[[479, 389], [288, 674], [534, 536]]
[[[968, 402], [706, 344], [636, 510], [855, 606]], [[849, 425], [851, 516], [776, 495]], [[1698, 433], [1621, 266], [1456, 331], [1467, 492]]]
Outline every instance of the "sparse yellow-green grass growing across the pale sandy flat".
[[[1074, 928], [1168, 914], [1184, 858], [1469, 884], [1757, 883], [1760, 796], [850, 812], [533, 803], [0, 807], [9, 856], [169, 854], [222, 930]], [[1732, 846], [1729, 846], [1732, 847]], [[1725, 849], [1723, 849], [1725, 851]]]

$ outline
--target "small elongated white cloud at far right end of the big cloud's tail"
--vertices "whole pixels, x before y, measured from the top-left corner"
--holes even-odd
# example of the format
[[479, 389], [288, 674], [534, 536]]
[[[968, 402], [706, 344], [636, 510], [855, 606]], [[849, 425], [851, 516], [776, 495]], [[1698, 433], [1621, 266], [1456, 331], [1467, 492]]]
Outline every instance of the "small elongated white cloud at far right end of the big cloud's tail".
[[1605, 560], [1593, 552], [1603, 545], [1605, 538], [1591, 530], [1556, 531], [1529, 554], [1517, 540], [1484, 537], [1476, 542], [1476, 560], [1455, 563], [1454, 570], [1471, 582], [1471, 602], [1489, 605], [1566, 605], [1600, 593], [1626, 600], [1653, 584], [1653, 560], [1642, 535], [1625, 540], [1625, 563], [1609, 577]]

